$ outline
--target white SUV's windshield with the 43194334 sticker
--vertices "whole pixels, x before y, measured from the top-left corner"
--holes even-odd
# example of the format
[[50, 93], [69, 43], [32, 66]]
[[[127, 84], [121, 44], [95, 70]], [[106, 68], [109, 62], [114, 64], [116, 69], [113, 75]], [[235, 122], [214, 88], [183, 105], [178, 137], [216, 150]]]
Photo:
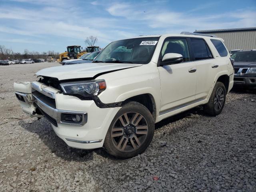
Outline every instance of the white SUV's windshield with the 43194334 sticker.
[[110, 43], [94, 62], [137, 63], [150, 62], [159, 37], [133, 38]]

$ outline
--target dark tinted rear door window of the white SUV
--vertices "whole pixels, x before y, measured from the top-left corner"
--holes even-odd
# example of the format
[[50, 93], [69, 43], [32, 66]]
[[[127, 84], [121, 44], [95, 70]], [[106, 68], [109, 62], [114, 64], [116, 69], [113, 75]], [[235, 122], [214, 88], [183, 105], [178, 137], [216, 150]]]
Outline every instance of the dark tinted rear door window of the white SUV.
[[195, 60], [211, 59], [212, 54], [203, 39], [191, 39]]

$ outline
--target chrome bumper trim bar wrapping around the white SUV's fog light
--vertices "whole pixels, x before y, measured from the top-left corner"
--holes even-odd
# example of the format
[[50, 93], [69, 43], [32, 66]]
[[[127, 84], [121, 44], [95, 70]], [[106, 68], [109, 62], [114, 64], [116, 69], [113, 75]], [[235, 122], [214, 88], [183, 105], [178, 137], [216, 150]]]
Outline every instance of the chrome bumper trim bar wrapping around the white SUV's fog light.
[[[46, 114], [48, 114], [50, 117], [54, 118], [57, 123], [61, 124], [67, 124], [67, 125], [74, 125], [74, 126], [83, 126], [87, 122], [87, 113], [86, 112], [80, 112], [80, 111], [68, 111], [68, 110], [60, 110], [55, 109], [40, 100], [37, 96], [33, 95], [35, 98], [34, 102], [36, 105], [43, 110]], [[82, 115], [82, 122], [80, 124], [77, 123], [67, 123], [61, 121], [61, 114], [79, 114]]]

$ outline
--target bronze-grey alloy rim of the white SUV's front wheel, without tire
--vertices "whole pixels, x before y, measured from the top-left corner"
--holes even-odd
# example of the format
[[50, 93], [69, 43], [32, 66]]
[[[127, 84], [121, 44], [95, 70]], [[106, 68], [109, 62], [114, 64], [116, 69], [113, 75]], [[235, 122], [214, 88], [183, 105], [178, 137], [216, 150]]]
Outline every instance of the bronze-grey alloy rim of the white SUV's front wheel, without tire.
[[146, 139], [147, 134], [146, 118], [138, 112], [122, 114], [111, 129], [114, 146], [124, 152], [138, 149]]

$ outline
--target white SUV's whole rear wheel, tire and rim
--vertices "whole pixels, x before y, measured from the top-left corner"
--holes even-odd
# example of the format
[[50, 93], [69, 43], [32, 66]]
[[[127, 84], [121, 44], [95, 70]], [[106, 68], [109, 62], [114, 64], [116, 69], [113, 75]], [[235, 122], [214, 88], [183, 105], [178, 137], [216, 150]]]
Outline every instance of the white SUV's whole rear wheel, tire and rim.
[[226, 88], [222, 82], [216, 82], [208, 103], [204, 105], [204, 112], [210, 116], [220, 114], [224, 108], [225, 101]]

